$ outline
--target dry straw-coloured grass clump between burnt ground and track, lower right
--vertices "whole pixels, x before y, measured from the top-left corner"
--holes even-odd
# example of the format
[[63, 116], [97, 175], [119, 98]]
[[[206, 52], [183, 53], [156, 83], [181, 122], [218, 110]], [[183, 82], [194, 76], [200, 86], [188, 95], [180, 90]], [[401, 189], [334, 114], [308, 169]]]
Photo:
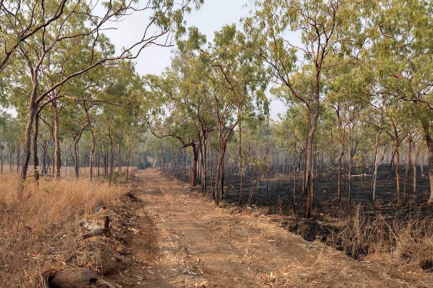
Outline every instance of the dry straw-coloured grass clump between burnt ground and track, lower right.
[[433, 272], [433, 218], [421, 214], [366, 215], [358, 207], [327, 242], [358, 258], [373, 256], [404, 270]]

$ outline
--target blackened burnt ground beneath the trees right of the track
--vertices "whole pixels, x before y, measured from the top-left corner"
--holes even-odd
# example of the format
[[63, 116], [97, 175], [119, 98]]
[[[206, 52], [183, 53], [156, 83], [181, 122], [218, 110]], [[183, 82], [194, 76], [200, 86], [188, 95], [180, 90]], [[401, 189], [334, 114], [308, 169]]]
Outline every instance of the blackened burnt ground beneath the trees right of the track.
[[[387, 224], [392, 226], [390, 229], [400, 229], [402, 225], [413, 219], [429, 219], [433, 208], [426, 205], [429, 197], [428, 167], [424, 168], [426, 175], [420, 176], [420, 168], [417, 167], [416, 191], [413, 192], [413, 174], [409, 172], [404, 193], [404, 167], [400, 167], [400, 198], [402, 203], [396, 203], [396, 177], [395, 167], [381, 165], [378, 169], [378, 179], [376, 188], [376, 200], [371, 201], [372, 171], [366, 169], [364, 176], [355, 175], [352, 182], [352, 197], [349, 205], [348, 180], [342, 176], [341, 203], [337, 199], [337, 171], [334, 170], [334, 179], [330, 169], [316, 175], [314, 180], [314, 207], [311, 219], [303, 218], [304, 196], [301, 195], [302, 171], [296, 172], [295, 197], [296, 206], [293, 207], [293, 176], [272, 175], [272, 171], [263, 173], [259, 178], [254, 179], [253, 185], [253, 207], [266, 207], [270, 214], [279, 215], [278, 221], [281, 226], [289, 231], [302, 236], [307, 241], [321, 240], [337, 249], [343, 249], [340, 241], [335, 239], [337, 234], [341, 234], [345, 227], [352, 225], [349, 223], [355, 216], [360, 214], [361, 218], [367, 219], [364, 223], [366, 227], [371, 225], [374, 218], [386, 219]], [[316, 173], [317, 174], [317, 173]], [[226, 199], [229, 203], [238, 204], [239, 202], [239, 176], [231, 175], [228, 177], [228, 191]], [[244, 189], [242, 203], [248, 201], [250, 192], [250, 178], [244, 179]], [[227, 190], [227, 189], [226, 189]], [[404, 201], [404, 203], [403, 203]], [[368, 222], [370, 220], [370, 222]], [[342, 225], [342, 222], [346, 222]], [[367, 223], [368, 222], [368, 223]], [[398, 228], [396, 228], [398, 226]], [[386, 227], [385, 227], [386, 228]], [[428, 227], [431, 232], [431, 225]], [[344, 232], [344, 231], [343, 231]], [[347, 232], [347, 231], [346, 231]], [[384, 231], [390, 233], [388, 231]], [[430, 235], [431, 236], [431, 235]], [[360, 239], [362, 241], [362, 239]], [[385, 249], [392, 249], [395, 243], [385, 243]], [[363, 259], [369, 253], [368, 244], [360, 247], [357, 251], [344, 248], [345, 252], [356, 259]], [[426, 264], [420, 264], [424, 270], [433, 271], [433, 260], [426, 260]]]

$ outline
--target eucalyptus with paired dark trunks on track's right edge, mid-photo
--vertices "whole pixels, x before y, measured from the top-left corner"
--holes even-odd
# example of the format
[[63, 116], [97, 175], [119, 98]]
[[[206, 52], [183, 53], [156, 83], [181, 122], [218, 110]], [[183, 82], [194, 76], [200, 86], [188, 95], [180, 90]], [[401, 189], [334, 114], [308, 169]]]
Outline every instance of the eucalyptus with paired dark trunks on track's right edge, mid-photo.
[[[201, 188], [207, 190], [207, 141], [209, 133], [215, 129], [215, 122], [206, 102], [209, 83], [209, 67], [206, 66], [194, 51], [194, 46], [203, 45], [206, 42], [204, 35], [193, 27], [189, 29], [188, 39], [177, 42], [178, 50], [172, 59], [171, 67], [165, 76], [173, 88], [168, 101], [172, 102], [175, 113], [182, 120], [179, 127], [184, 132], [172, 131], [182, 143], [183, 147], [192, 147], [193, 162], [191, 184], [195, 185], [197, 177], [197, 161], [200, 156]], [[177, 117], [171, 118], [172, 120]], [[187, 132], [187, 133], [185, 133]], [[184, 136], [181, 136], [183, 134]], [[183, 137], [189, 139], [185, 141]]]

